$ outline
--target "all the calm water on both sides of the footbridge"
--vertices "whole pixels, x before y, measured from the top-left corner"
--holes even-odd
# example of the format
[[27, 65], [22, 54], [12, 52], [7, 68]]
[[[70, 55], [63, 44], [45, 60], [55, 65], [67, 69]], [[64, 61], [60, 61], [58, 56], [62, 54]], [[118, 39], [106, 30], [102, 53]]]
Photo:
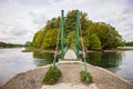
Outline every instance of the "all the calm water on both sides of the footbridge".
[[[52, 63], [52, 53], [21, 52], [23, 48], [0, 49], [0, 83], [19, 72]], [[89, 63], [106, 68], [133, 82], [133, 51], [89, 53]]]

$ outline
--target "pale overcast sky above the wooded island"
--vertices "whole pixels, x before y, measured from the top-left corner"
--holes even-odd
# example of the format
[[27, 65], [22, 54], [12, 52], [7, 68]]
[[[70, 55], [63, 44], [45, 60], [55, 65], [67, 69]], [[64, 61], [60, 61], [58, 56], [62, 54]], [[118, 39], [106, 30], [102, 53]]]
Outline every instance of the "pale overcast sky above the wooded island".
[[0, 41], [25, 43], [60, 11], [79, 9], [133, 41], [133, 0], [0, 0]]

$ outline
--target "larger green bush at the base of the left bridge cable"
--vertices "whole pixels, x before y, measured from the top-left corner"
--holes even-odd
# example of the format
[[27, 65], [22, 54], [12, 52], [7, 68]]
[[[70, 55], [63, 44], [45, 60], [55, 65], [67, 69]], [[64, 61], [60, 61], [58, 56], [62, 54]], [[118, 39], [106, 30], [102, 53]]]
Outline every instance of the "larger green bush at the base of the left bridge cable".
[[59, 81], [59, 78], [61, 77], [61, 71], [58, 67], [51, 66], [49, 70], [45, 72], [44, 78], [43, 78], [43, 83], [44, 85], [54, 85]]

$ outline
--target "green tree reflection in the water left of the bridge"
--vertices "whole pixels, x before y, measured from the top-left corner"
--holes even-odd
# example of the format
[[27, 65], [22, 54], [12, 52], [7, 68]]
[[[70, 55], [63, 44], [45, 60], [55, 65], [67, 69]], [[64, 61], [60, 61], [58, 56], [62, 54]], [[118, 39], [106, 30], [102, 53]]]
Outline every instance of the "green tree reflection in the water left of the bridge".
[[35, 66], [50, 65], [53, 61], [53, 53], [33, 52], [33, 62]]

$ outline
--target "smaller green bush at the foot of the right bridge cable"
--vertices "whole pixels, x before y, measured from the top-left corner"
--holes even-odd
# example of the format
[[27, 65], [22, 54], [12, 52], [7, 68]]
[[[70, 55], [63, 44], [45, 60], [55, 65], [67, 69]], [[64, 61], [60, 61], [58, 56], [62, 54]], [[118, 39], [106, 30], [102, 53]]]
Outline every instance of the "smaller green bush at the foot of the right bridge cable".
[[[89, 81], [86, 81], [86, 76], [88, 76], [88, 78], [89, 78]], [[93, 81], [93, 77], [91, 76], [90, 72], [88, 72], [88, 75], [86, 75], [85, 71], [81, 71], [81, 72], [80, 72], [80, 77], [81, 77], [81, 81], [82, 81], [82, 82], [92, 82], [92, 81]]]

